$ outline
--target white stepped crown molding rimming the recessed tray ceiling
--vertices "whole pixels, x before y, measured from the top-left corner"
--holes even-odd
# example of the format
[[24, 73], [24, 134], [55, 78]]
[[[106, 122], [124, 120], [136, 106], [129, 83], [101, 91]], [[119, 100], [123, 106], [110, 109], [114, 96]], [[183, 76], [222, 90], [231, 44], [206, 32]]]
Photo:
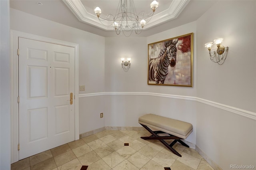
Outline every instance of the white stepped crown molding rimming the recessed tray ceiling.
[[[68, 8], [73, 12], [73, 14], [76, 16], [76, 18], [78, 18], [80, 22], [96, 26], [106, 31], [114, 30], [111, 21], [102, 21], [105, 26], [101, 24], [96, 14], [90, 14], [89, 12], [87, 12], [86, 8], [80, 0], [62, 1], [66, 4], [66, 6], [68, 6]], [[144, 30], [177, 18], [182, 10], [185, 8], [185, 6], [188, 4], [188, 2], [190, 2], [190, 0], [173, 0], [169, 8], [164, 11], [158, 12], [151, 18], [150, 22], [144, 27]]]

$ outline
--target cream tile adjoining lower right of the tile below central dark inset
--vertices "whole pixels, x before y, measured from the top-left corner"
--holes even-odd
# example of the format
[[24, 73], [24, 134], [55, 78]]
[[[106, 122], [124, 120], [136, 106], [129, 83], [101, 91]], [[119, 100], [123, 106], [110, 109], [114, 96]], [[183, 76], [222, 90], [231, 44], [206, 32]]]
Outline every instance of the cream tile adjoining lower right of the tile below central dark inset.
[[140, 169], [142, 168], [142, 166], [148, 163], [148, 161], [150, 161], [150, 158], [144, 156], [140, 152], [136, 152], [135, 154], [127, 158], [127, 160]]

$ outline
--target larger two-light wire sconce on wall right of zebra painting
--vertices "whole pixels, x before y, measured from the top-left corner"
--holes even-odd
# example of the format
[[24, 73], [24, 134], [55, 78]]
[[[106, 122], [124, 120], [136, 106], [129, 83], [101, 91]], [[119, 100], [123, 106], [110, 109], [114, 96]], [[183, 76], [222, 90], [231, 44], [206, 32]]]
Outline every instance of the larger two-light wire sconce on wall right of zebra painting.
[[222, 65], [228, 55], [228, 47], [224, 47], [221, 45], [223, 38], [218, 38], [213, 40], [214, 43], [217, 45], [217, 49], [214, 49], [211, 51], [212, 48], [212, 42], [208, 42], [205, 45], [206, 48], [209, 50], [210, 59], [214, 63], [218, 63], [219, 65]]

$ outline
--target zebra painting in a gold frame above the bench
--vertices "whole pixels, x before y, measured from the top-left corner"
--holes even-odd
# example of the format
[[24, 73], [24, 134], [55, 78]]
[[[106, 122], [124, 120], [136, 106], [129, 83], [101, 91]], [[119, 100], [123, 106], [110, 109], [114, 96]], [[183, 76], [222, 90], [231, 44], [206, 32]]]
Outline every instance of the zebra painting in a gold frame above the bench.
[[193, 87], [193, 36], [148, 44], [148, 85]]

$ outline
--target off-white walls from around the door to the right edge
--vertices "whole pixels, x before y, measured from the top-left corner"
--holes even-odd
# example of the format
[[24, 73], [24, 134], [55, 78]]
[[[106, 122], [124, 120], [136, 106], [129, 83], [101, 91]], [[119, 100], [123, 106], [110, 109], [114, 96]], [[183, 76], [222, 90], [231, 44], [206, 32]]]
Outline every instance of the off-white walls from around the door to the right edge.
[[[229, 169], [229, 164], [255, 162], [256, 121], [189, 97], [256, 112], [255, 9], [255, 1], [220, 1], [197, 21], [147, 38], [103, 38], [14, 9], [11, 29], [79, 44], [79, 81], [86, 85], [79, 100], [80, 134], [104, 126], [139, 127], [140, 115], [155, 113], [192, 123], [194, 131], [186, 140], [221, 168]], [[148, 85], [147, 44], [191, 32], [193, 87]], [[204, 47], [219, 37], [230, 47], [222, 66], [210, 61]], [[128, 72], [122, 70], [120, 57], [132, 58]], [[104, 93], [97, 94], [100, 92]], [[103, 119], [99, 118], [101, 112]]]

